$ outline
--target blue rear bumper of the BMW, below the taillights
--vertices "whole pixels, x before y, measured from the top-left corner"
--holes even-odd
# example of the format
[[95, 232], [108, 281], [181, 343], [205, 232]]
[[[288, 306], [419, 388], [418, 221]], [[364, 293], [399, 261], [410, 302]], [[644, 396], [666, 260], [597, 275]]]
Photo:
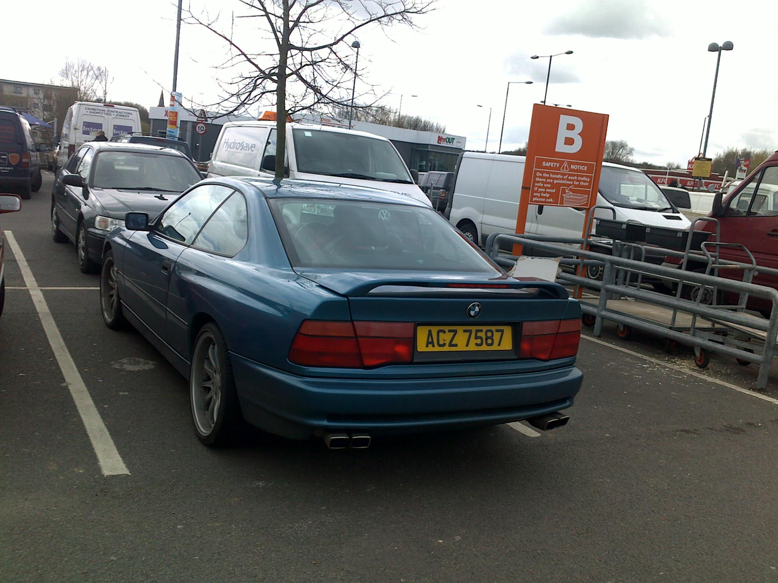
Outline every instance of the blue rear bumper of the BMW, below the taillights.
[[371, 435], [520, 421], [570, 407], [583, 375], [545, 372], [432, 379], [313, 378], [230, 354], [246, 421], [289, 438], [328, 431]]

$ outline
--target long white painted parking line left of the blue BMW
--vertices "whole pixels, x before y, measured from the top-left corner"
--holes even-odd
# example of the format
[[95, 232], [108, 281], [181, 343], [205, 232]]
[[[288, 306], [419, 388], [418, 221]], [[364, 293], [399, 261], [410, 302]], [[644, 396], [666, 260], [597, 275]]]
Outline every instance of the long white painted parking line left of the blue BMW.
[[38, 287], [33, 272], [30, 271], [30, 266], [27, 264], [19, 243], [16, 243], [16, 238], [11, 231], [5, 231], [5, 238], [8, 240], [14, 257], [16, 257], [16, 263], [19, 265], [19, 271], [22, 272], [24, 283], [30, 292], [30, 297], [33, 299], [40, 323], [44, 326], [44, 332], [51, 345], [51, 350], [54, 351], [54, 358], [57, 359], [57, 364], [65, 377], [65, 383], [68, 385], [68, 389], [70, 389], [75, 407], [79, 410], [81, 421], [84, 424], [84, 428], [86, 428], [86, 434], [89, 435], [89, 441], [92, 442], [92, 447], [95, 450], [97, 462], [100, 463], [100, 470], [102, 470], [103, 476], [128, 474], [129, 470], [124, 465], [124, 461], [121, 459], [116, 445], [114, 445], [114, 440], [110, 437], [110, 433], [108, 433], [108, 429], [95, 407], [92, 396], [89, 395], [89, 390], [86, 389], [79, 369], [75, 367], [75, 361], [73, 361], [70, 352], [68, 352], [65, 340], [62, 340], [57, 324], [54, 323], [54, 316], [49, 311], [44, 294]]

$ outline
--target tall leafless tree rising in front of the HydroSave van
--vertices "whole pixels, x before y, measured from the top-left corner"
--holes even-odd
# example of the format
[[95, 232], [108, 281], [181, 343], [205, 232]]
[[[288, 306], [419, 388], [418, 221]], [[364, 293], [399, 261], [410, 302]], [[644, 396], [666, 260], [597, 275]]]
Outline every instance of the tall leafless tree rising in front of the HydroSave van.
[[[366, 26], [414, 26], [413, 17], [432, 9], [434, 0], [234, 0], [240, 9], [229, 28], [219, 16], [195, 15], [187, 23], [221, 38], [229, 56], [219, 66], [235, 73], [222, 86], [219, 108], [237, 113], [272, 103], [275, 96], [275, 178], [284, 176], [286, 116], [303, 110], [347, 106], [357, 75], [356, 51], [349, 40]], [[241, 23], [237, 26], [237, 23]], [[251, 33], [243, 23], [254, 23]], [[259, 34], [257, 34], [259, 33]]]

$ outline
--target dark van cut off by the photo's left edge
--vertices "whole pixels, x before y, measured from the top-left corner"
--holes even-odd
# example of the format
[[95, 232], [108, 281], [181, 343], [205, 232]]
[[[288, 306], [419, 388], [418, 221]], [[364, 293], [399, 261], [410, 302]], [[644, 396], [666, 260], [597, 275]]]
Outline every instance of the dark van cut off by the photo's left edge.
[[0, 192], [30, 198], [42, 180], [30, 124], [16, 110], [0, 107]]

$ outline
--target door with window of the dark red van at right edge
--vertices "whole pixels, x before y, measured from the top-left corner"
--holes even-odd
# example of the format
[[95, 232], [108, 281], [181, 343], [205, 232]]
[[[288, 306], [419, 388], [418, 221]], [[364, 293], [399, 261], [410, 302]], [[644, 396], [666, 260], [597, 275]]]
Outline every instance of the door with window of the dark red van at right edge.
[[[756, 264], [778, 268], [778, 166], [766, 166], [728, 201], [719, 219], [721, 241], [741, 243], [754, 256]], [[749, 263], [745, 251], [723, 248], [723, 259]], [[724, 277], [741, 280], [740, 271], [724, 270]], [[758, 274], [754, 283], [778, 288], [778, 278]]]

